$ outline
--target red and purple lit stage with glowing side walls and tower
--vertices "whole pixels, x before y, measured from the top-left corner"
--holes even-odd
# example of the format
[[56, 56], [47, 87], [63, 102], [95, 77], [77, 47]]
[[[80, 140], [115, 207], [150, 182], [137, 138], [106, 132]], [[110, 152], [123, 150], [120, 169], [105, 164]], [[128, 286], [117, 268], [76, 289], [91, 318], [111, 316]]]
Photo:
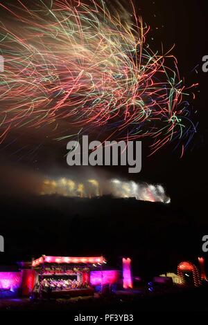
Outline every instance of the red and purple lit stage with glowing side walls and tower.
[[[103, 270], [104, 257], [53, 257], [42, 255], [31, 262], [21, 262], [13, 271], [11, 268], [0, 270], [0, 298], [31, 296], [33, 293], [51, 292], [58, 295], [64, 291], [71, 294], [86, 289], [96, 290], [100, 286], [122, 284], [122, 271]], [[132, 288], [130, 259], [123, 259], [123, 288]], [[85, 289], [85, 290], [84, 290]], [[75, 293], [74, 293], [75, 294]], [[38, 294], [39, 297], [41, 295]]]

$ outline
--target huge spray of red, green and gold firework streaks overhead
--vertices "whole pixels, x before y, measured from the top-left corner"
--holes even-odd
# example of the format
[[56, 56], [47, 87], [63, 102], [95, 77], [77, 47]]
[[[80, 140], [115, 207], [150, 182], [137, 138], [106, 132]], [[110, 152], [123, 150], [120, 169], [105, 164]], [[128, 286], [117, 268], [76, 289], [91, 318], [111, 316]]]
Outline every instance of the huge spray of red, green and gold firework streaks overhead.
[[41, 127], [62, 140], [71, 136], [64, 121], [108, 139], [151, 138], [152, 153], [173, 140], [184, 151], [196, 129], [176, 59], [150, 50], [131, 1], [130, 12], [101, 0], [17, 3], [0, 3], [10, 15], [1, 22], [1, 141]]

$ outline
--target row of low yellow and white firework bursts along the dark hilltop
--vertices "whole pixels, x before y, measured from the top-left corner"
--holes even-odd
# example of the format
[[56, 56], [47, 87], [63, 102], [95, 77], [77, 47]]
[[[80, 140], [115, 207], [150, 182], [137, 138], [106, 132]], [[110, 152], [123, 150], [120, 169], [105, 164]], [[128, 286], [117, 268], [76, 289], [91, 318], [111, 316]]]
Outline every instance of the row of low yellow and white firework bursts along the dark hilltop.
[[135, 198], [139, 201], [170, 203], [162, 185], [147, 183], [135, 183], [132, 180], [120, 180], [112, 178], [103, 181], [96, 179], [71, 180], [69, 178], [45, 179], [41, 186], [40, 194], [71, 197], [96, 197], [103, 194], [111, 194], [116, 198]]

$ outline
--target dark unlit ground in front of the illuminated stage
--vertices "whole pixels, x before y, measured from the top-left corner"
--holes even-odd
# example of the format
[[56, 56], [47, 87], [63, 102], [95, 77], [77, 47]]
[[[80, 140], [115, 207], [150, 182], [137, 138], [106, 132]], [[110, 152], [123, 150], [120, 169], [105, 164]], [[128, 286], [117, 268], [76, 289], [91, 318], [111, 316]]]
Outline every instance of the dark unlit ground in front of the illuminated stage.
[[[141, 311], [208, 311], [207, 288], [192, 288], [180, 293], [166, 295], [120, 296], [120, 297], [78, 297], [76, 299], [58, 299], [55, 301], [30, 301], [29, 299], [0, 300], [0, 311], [5, 312], [64, 312], [71, 321], [76, 315], [130, 314], [135, 319]], [[102, 319], [101, 319], [102, 320]], [[99, 324], [99, 323], [98, 323]]]

